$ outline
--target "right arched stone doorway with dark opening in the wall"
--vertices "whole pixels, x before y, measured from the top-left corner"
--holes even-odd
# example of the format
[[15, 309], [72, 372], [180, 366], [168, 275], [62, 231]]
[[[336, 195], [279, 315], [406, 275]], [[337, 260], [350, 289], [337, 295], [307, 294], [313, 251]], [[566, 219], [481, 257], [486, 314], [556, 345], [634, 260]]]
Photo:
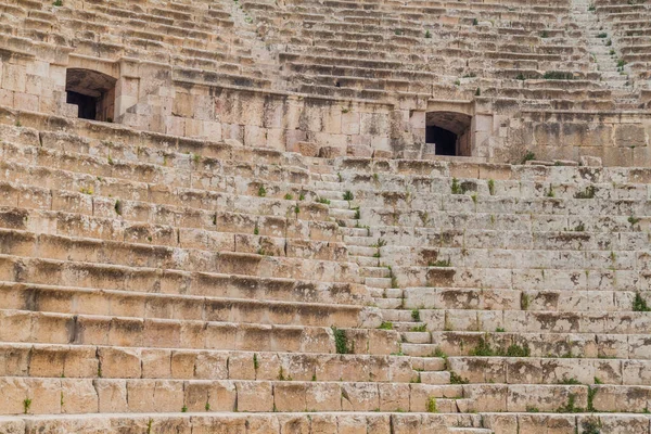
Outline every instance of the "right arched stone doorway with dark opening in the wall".
[[[458, 112], [427, 112], [425, 143], [435, 155], [471, 155], [472, 116]], [[433, 148], [433, 149], [432, 149]]]

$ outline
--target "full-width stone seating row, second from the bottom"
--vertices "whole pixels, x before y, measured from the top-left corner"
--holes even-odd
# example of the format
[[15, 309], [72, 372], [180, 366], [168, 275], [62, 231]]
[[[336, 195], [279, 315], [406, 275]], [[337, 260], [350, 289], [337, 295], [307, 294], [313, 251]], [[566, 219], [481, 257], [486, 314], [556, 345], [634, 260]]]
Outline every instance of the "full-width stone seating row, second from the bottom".
[[[21, 412], [29, 396], [34, 396], [30, 412], [37, 414], [179, 412], [178, 407], [192, 412], [206, 409], [272, 412], [273, 408], [279, 412], [401, 412], [406, 409], [425, 412], [430, 397], [435, 397], [437, 404], [455, 405], [455, 400], [443, 398], [436, 392], [441, 386], [424, 384], [31, 378], [3, 378], [0, 381], [10, 386], [7, 387], [9, 393], [3, 395], [5, 405], [1, 407], [5, 414]], [[553, 412], [567, 405], [573, 409], [591, 407], [596, 411], [642, 413], [651, 388], [470, 384], [463, 385], [462, 391], [470, 398], [457, 400], [456, 406], [474, 404], [486, 411], [524, 412], [537, 408], [538, 411]]]

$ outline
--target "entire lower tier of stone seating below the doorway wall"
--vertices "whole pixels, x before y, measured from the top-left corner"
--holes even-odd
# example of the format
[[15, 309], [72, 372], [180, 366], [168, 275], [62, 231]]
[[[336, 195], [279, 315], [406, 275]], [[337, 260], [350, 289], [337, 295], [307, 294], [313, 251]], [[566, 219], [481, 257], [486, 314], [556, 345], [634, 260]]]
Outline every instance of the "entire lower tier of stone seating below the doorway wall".
[[33, 119], [0, 148], [7, 432], [649, 426], [646, 169]]

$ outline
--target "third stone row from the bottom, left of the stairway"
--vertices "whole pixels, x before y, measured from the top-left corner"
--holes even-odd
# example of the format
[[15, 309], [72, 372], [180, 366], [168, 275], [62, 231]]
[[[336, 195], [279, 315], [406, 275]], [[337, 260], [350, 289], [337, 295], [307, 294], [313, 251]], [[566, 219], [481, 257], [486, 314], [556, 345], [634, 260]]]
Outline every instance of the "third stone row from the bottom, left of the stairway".
[[5, 376], [409, 383], [443, 359], [93, 345], [0, 344]]

